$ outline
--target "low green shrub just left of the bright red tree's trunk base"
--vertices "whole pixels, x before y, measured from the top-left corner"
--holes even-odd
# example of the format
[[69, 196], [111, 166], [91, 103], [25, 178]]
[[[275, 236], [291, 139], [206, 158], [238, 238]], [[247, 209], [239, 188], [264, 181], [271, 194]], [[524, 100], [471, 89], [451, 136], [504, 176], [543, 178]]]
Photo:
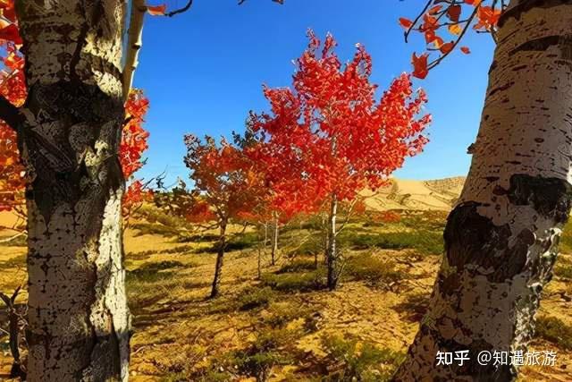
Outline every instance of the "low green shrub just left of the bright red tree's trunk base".
[[276, 291], [309, 292], [325, 288], [325, 270], [262, 275], [262, 282]]

